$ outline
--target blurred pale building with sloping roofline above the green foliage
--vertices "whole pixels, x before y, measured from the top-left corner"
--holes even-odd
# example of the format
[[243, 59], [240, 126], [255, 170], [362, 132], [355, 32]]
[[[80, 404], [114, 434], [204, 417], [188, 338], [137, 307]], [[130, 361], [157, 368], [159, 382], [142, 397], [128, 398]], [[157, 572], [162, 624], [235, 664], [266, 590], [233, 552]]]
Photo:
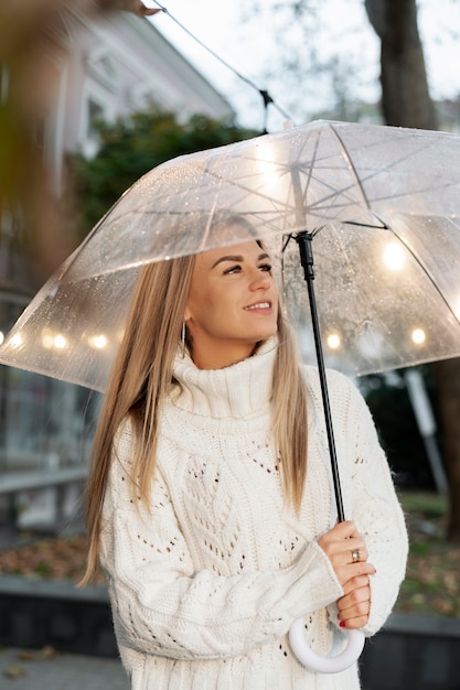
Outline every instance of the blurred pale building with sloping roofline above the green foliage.
[[94, 122], [114, 121], [151, 105], [184, 117], [233, 116], [228, 101], [164, 39], [154, 19], [118, 12], [67, 22], [67, 58], [60, 68], [46, 150], [62, 184], [63, 155], [97, 150]]

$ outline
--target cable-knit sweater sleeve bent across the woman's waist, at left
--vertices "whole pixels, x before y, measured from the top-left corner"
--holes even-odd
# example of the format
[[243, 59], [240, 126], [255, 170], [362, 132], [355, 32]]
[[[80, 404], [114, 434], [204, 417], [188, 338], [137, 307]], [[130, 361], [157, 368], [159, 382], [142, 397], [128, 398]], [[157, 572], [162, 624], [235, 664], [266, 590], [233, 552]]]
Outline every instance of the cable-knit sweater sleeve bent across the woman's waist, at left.
[[100, 553], [120, 645], [176, 659], [243, 655], [342, 594], [315, 542], [284, 570], [233, 576], [195, 571], [160, 473], [150, 509], [135, 505], [126, 434], [113, 462]]

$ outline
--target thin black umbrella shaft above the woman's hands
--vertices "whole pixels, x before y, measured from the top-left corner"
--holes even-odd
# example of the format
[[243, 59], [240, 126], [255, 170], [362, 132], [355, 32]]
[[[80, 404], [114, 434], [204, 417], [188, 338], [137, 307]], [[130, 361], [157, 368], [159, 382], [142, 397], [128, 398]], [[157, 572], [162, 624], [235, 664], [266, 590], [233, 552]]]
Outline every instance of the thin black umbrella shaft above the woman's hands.
[[324, 356], [323, 356], [323, 349], [322, 349], [320, 323], [318, 319], [317, 299], [314, 297], [314, 285], [313, 285], [314, 270], [313, 270], [312, 239], [313, 239], [312, 235], [307, 231], [299, 233], [296, 237], [296, 240], [299, 245], [300, 262], [303, 268], [303, 276], [307, 281], [308, 298], [310, 302], [311, 322], [312, 322], [313, 336], [314, 336], [314, 347], [317, 351], [318, 371], [320, 376], [322, 402], [323, 402], [323, 409], [324, 409], [325, 430], [328, 433], [329, 454], [331, 459], [332, 481], [333, 481], [334, 494], [335, 494], [335, 505], [338, 509], [339, 522], [343, 522], [345, 520], [345, 514], [343, 510], [342, 488], [340, 485], [339, 463], [336, 459], [331, 405], [330, 405], [330, 399], [329, 399], [328, 381], [325, 377]]

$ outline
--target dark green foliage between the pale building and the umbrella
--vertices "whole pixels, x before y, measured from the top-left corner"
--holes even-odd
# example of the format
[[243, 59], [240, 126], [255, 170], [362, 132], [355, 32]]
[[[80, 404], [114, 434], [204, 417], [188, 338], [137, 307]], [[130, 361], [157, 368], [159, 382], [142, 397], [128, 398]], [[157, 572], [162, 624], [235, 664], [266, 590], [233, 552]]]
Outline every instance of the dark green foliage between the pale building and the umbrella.
[[194, 115], [186, 121], [159, 109], [136, 112], [97, 127], [95, 158], [69, 159], [74, 177], [76, 235], [82, 239], [117, 198], [152, 168], [178, 155], [233, 143], [258, 132], [233, 121]]

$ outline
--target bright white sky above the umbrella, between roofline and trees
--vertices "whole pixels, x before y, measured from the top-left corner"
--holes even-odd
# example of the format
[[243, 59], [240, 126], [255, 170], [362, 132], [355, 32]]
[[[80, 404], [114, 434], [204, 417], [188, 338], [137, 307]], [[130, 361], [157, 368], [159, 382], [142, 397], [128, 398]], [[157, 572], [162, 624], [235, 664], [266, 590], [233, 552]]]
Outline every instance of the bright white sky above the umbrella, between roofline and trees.
[[[145, 3], [149, 7], [159, 4], [154, 0], [145, 0]], [[269, 106], [267, 111], [268, 131], [281, 129], [287, 119], [300, 125], [330, 105], [330, 90], [318, 76], [311, 79], [310, 87], [307, 85], [303, 95], [296, 95], [296, 87], [282, 74], [282, 67], [276, 61], [279, 36], [269, 1], [265, 3], [267, 12], [259, 19], [248, 15], [248, 3], [244, 0], [164, 0], [160, 4], [169, 14], [156, 14], [151, 21], [229, 100], [240, 125], [261, 128], [265, 123], [259, 89], [268, 90], [276, 101], [276, 106]], [[356, 95], [363, 100], [378, 99], [379, 42], [368, 23], [364, 2], [328, 0], [322, 7], [328, 13], [323, 11], [321, 14], [325, 40], [319, 46], [320, 52], [327, 56], [328, 46], [333, 46], [340, 48], [347, 61], [360, 63]], [[418, 7], [431, 95], [436, 99], [454, 98], [460, 94], [460, 1], [419, 0]], [[174, 20], [243, 78], [222, 65]], [[296, 46], [300, 46], [304, 37], [295, 24], [289, 31], [290, 56], [296, 58], [301, 55]], [[295, 108], [293, 101], [298, 104]]]

